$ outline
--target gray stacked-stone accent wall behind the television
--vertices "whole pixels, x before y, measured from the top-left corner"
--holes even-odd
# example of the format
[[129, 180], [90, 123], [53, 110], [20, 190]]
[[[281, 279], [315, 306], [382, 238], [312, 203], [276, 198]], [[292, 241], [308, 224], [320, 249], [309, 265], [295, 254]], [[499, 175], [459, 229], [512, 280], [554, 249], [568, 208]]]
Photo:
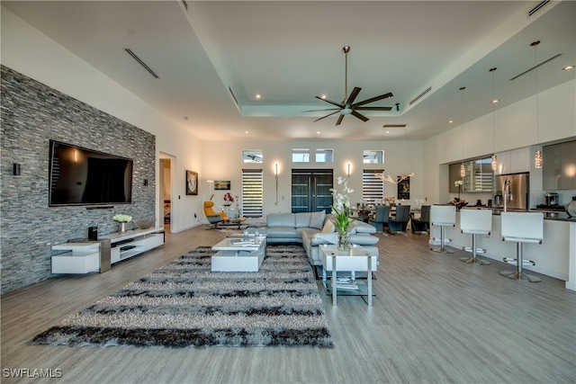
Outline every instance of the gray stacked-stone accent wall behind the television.
[[[88, 227], [97, 226], [99, 235], [117, 232], [117, 213], [155, 219], [156, 137], [8, 67], [0, 70], [4, 294], [53, 276], [51, 246], [86, 238]], [[132, 202], [97, 210], [49, 207], [49, 139], [133, 159]], [[21, 175], [13, 174], [14, 163]]]

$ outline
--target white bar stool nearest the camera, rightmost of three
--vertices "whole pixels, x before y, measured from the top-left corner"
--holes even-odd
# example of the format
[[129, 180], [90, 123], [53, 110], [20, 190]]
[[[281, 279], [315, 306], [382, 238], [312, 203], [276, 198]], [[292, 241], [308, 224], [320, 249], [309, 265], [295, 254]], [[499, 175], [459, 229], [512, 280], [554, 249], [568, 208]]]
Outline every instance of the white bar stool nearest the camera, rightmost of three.
[[502, 241], [516, 243], [516, 259], [504, 257], [504, 263], [515, 264], [516, 271], [502, 271], [500, 274], [509, 279], [537, 282], [541, 279], [522, 272], [523, 265], [536, 265], [533, 261], [524, 260], [522, 245], [542, 244], [544, 238], [544, 214], [542, 212], [502, 212]]

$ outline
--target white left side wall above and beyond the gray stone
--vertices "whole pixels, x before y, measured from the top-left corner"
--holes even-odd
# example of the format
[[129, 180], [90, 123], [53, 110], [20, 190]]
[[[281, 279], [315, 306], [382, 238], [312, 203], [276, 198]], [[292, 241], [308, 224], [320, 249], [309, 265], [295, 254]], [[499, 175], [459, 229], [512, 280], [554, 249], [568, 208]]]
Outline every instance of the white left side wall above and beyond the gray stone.
[[[160, 180], [159, 152], [175, 156], [172, 207], [178, 214], [173, 218], [172, 231], [178, 232], [200, 224], [199, 219], [203, 216], [202, 196], [186, 196], [184, 189], [186, 169], [202, 173], [202, 145], [198, 138], [4, 7], [1, 62], [25, 76], [156, 135], [157, 182]], [[160, 198], [160, 188], [157, 183], [157, 200]], [[199, 219], [194, 219], [193, 213]], [[162, 225], [162, 216], [158, 208], [157, 225]]]

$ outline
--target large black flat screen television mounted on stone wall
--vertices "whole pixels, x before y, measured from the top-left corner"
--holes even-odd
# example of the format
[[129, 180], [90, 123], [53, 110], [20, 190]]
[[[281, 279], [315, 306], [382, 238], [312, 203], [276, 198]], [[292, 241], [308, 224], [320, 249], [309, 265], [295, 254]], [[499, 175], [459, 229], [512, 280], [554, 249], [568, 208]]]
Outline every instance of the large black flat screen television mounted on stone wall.
[[130, 158], [50, 140], [49, 206], [130, 203], [132, 166]]

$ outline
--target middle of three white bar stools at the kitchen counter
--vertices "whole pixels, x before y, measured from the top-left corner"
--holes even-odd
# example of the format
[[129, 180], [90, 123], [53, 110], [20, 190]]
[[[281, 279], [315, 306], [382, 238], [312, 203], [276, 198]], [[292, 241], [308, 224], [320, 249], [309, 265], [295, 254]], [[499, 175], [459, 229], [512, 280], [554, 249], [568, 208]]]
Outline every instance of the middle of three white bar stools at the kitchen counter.
[[460, 210], [460, 231], [472, 234], [472, 246], [464, 246], [466, 252], [472, 252], [472, 257], [461, 257], [464, 263], [488, 265], [490, 262], [476, 258], [477, 254], [484, 254], [484, 248], [476, 247], [477, 235], [490, 235], [492, 230], [492, 211], [466, 208]]

